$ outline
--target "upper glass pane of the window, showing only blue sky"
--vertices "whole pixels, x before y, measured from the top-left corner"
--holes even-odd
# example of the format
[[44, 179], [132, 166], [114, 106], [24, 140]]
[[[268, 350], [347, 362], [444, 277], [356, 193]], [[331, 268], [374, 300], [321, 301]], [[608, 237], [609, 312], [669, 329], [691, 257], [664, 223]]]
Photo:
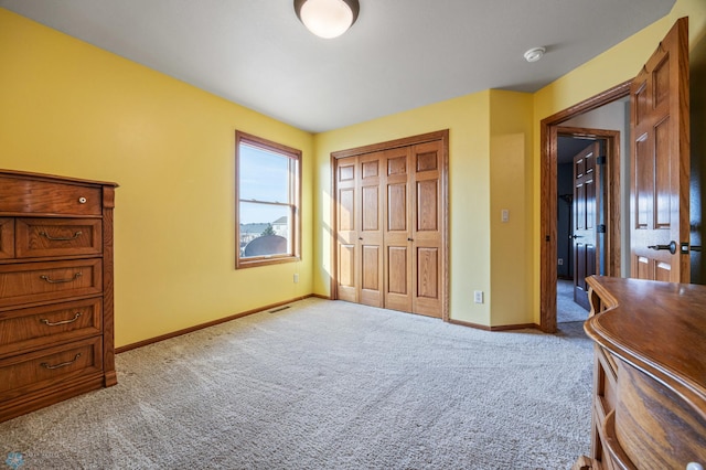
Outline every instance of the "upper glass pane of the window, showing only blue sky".
[[289, 203], [290, 159], [240, 143], [240, 200]]

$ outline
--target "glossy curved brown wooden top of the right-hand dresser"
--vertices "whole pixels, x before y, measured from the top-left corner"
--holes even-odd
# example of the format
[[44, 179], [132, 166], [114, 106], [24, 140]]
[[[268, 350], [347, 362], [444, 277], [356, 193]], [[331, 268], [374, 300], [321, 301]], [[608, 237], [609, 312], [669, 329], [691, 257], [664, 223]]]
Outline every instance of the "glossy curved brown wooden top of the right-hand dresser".
[[706, 286], [592, 276], [608, 310], [587, 334], [672, 388], [706, 417]]

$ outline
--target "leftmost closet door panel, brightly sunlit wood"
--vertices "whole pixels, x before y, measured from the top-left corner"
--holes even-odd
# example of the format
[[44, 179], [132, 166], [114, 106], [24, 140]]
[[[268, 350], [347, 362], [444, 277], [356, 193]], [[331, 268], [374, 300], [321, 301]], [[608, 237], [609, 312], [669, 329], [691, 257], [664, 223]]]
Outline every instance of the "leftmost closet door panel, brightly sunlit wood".
[[359, 301], [357, 157], [336, 160], [335, 256], [338, 298]]

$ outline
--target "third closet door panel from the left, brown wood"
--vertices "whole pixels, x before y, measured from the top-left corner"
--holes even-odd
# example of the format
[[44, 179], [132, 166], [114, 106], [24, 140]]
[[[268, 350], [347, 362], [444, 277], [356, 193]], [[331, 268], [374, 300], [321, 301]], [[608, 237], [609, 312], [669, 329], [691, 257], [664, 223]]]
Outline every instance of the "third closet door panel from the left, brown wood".
[[383, 152], [385, 168], [385, 308], [413, 311], [410, 147]]

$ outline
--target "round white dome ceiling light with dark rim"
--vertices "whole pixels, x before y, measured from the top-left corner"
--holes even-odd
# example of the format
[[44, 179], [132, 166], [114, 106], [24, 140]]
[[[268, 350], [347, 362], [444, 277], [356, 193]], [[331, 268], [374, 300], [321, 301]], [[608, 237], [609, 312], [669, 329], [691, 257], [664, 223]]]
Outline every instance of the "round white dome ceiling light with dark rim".
[[355, 23], [357, 0], [295, 0], [295, 11], [304, 26], [319, 38], [343, 34]]

